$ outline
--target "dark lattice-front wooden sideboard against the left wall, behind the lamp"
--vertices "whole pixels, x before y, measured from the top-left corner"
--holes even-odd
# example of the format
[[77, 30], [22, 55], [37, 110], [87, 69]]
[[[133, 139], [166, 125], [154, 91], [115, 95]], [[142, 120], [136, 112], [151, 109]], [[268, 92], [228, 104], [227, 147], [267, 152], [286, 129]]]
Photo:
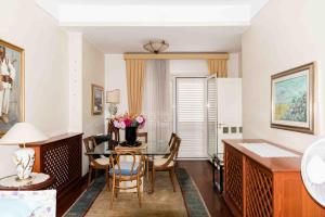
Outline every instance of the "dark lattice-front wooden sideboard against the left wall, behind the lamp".
[[49, 189], [56, 189], [57, 199], [79, 183], [82, 169], [82, 133], [65, 133], [26, 146], [35, 150], [32, 171], [54, 177]]

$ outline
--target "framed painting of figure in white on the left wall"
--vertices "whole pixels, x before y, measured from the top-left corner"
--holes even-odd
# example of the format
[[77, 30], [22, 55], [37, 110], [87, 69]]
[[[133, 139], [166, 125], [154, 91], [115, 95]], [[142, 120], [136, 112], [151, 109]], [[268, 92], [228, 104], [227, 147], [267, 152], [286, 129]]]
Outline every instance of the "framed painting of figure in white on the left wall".
[[25, 120], [24, 49], [0, 39], [0, 137]]

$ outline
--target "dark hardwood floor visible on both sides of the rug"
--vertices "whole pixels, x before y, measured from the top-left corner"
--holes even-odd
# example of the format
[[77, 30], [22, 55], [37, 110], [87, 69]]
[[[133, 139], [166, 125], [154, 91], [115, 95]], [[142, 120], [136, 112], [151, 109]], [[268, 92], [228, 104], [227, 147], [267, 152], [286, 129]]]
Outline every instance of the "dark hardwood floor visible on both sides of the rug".
[[[212, 167], [208, 161], [180, 161], [179, 167], [185, 168], [192, 177], [212, 217], [232, 216], [221, 194], [213, 189]], [[58, 217], [63, 216], [63, 214], [87, 189], [87, 177], [88, 176], [86, 176], [80, 183], [69, 191], [69, 193], [67, 193], [63, 199], [57, 201], [56, 215]]]

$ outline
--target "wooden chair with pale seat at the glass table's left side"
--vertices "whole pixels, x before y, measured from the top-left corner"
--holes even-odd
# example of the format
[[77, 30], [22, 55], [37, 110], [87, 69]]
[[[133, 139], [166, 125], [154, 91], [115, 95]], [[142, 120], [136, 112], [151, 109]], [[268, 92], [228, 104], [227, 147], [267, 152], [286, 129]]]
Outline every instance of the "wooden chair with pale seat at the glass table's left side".
[[[83, 144], [87, 152], [93, 152], [96, 143], [94, 137], [88, 137], [83, 139]], [[89, 175], [88, 175], [88, 187], [91, 182], [92, 170], [104, 169], [106, 176], [107, 189], [109, 190], [109, 158], [108, 157], [99, 157], [95, 158], [93, 155], [88, 155], [89, 158]]]

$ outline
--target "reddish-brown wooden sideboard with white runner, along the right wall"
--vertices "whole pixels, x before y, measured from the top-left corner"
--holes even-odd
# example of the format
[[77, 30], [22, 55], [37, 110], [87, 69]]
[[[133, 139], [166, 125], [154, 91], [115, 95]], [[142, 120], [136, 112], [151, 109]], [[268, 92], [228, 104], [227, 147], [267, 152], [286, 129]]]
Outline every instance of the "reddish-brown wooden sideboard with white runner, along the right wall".
[[274, 144], [265, 140], [223, 141], [223, 197], [233, 215], [236, 217], [325, 216], [325, 208], [309, 195], [302, 183], [301, 154], [289, 150], [299, 157], [261, 157], [238, 144], [255, 142]]

